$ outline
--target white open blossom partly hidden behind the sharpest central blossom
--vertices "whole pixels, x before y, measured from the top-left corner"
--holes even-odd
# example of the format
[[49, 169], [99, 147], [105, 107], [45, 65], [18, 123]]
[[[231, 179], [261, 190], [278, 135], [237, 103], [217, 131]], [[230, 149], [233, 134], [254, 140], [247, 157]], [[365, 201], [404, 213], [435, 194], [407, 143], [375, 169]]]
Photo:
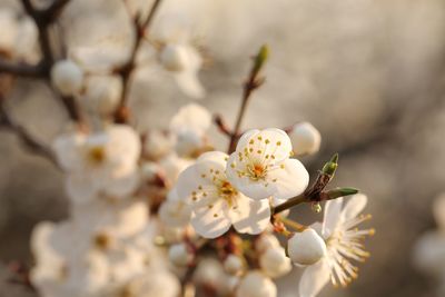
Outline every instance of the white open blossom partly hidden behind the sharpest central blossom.
[[234, 188], [225, 174], [227, 159], [219, 151], [202, 154], [178, 178], [177, 194], [190, 204], [191, 225], [206, 238], [225, 234], [231, 225], [238, 232], [259, 234], [269, 224], [269, 201]]

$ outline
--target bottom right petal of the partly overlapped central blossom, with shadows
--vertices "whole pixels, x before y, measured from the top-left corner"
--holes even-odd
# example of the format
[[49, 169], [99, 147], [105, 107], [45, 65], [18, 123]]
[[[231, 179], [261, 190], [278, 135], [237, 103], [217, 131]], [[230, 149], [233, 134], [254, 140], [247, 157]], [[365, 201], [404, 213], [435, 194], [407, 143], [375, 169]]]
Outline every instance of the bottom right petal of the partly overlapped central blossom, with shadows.
[[237, 208], [229, 210], [231, 224], [241, 234], [260, 234], [269, 225], [270, 207], [267, 199], [253, 200], [244, 195], [237, 199]]

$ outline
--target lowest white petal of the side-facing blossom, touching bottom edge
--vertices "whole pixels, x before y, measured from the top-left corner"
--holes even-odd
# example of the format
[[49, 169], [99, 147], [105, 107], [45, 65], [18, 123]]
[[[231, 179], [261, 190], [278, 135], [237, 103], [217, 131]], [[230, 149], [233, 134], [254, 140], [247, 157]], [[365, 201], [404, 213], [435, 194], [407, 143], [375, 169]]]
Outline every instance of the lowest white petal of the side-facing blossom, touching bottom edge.
[[326, 261], [320, 260], [305, 269], [299, 280], [299, 297], [315, 297], [329, 280], [330, 270]]

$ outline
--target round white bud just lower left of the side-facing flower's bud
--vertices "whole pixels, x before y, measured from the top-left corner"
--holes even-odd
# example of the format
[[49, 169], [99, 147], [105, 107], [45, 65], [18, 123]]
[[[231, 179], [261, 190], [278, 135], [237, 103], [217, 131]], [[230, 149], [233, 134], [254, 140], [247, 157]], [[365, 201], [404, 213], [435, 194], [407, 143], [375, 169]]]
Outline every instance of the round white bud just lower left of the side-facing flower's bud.
[[261, 270], [269, 277], [276, 278], [291, 270], [290, 259], [281, 247], [267, 249], [259, 258]]

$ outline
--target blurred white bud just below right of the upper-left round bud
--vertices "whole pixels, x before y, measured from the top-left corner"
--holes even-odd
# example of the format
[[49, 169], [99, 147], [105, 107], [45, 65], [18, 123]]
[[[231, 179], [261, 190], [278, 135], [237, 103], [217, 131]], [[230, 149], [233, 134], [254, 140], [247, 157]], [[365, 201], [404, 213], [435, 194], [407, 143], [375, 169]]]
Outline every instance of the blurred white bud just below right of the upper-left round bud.
[[86, 86], [88, 107], [100, 115], [110, 115], [116, 110], [122, 91], [122, 81], [118, 77], [91, 77]]

